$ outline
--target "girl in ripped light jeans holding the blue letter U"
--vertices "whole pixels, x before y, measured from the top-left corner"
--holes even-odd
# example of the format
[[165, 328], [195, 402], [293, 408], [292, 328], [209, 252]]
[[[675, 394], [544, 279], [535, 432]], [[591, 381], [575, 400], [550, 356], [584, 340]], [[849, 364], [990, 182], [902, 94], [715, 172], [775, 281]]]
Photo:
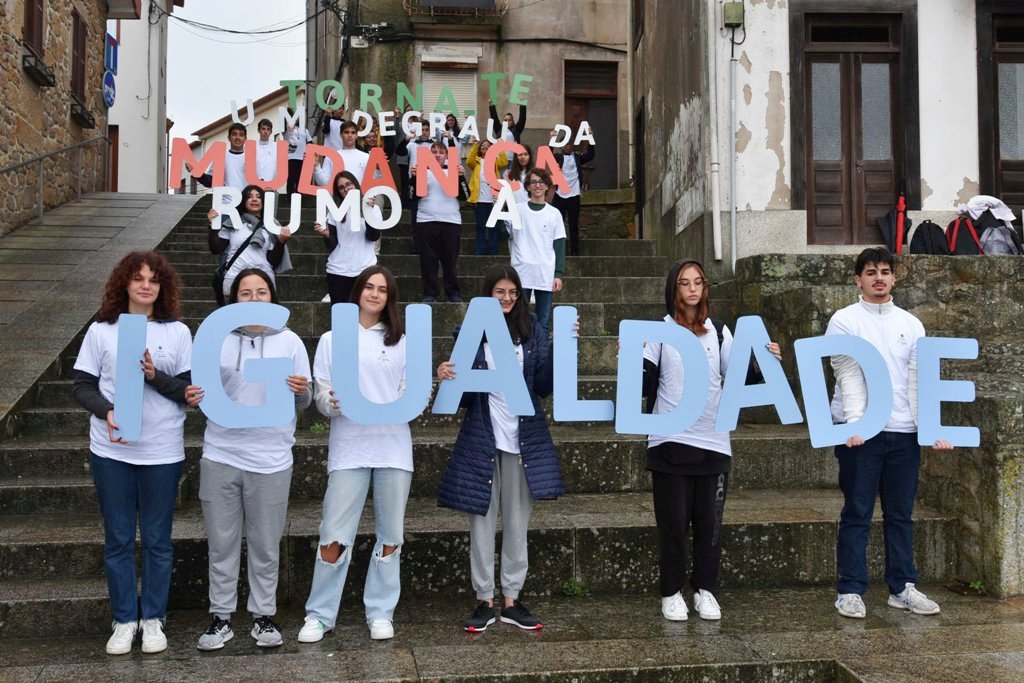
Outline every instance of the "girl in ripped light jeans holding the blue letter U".
[[[356, 278], [351, 303], [359, 307], [359, 391], [372, 401], [392, 402], [406, 391], [406, 334], [398, 312], [397, 281], [384, 266], [370, 266]], [[331, 418], [329, 475], [312, 588], [298, 640], [316, 642], [337, 623], [371, 483], [377, 538], [362, 602], [370, 637], [387, 640], [394, 637], [392, 620], [401, 594], [399, 566], [406, 503], [413, 483], [413, 436], [408, 423], [358, 424], [340, 412], [333, 388], [332, 344], [328, 331], [313, 358], [316, 410]], [[346, 389], [338, 387], [338, 391]]]

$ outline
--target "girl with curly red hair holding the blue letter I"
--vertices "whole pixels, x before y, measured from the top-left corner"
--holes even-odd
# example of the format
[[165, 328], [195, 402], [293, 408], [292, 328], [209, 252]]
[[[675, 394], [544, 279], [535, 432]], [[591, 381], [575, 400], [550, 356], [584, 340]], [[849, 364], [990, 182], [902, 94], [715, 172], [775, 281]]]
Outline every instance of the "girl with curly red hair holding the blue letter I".
[[[174, 554], [171, 520], [185, 459], [185, 387], [191, 335], [181, 314], [177, 272], [157, 252], [132, 252], [114, 267], [96, 322], [75, 361], [75, 400], [92, 414], [89, 451], [103, 518], [103, 568], [114, 612], [108, 654], [127, 654], [142, 631], [142, 651], [167, 649], [164, 621]], [[115, 434], [118, 318], [145, 315], [145, 352], [139, 356], [142, 430], [136, 441]], [[135, 583], [135, 528], [142, 543], [141, 613]], [[139, 617], [141, 616], [141, 622]]]

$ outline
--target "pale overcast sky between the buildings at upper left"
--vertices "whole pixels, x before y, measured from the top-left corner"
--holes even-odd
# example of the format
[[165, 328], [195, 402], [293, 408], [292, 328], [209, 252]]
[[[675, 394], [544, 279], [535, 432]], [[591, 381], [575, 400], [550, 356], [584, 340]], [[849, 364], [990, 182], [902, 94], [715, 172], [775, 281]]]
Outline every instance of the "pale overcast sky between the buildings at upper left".
[[[305, 17], [305, 0], [185, 0], [174, 16], [236, 31], [292, 26]], [[283, 79], [305, 78], [305, 30], [239, 36], [169, 19], [167, 116], [172, 137], [191, 133], [278, 89]]]

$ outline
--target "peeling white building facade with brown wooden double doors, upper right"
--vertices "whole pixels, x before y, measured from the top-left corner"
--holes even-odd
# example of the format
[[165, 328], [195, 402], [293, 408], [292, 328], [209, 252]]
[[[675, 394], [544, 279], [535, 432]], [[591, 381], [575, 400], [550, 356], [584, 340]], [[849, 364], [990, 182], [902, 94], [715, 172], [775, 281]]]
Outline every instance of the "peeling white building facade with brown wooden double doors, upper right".
[[915, 223], [978, 194], [1024, 209], [1016, 0], [635, 0], [631, 22], [637, 201], [664, 253], [722, 279], [856, 252], [900, 188]]

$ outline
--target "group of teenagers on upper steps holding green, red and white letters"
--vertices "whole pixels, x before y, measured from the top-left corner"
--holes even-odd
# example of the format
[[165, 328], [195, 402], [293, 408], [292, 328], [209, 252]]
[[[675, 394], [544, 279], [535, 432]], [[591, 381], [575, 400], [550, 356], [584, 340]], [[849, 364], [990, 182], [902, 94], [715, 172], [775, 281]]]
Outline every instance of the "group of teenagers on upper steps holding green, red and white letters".
[[[494, 104], [490, 110], [493, 120], [497, 121]], [[536, 302], [538, 316], [547, 329], [552, 296], [562, 288], [566, 250], [570, 256], [580, 253], [581, 179], [584, 165], [593, 159], [594, 148], [590, 146], [585, 153], [579, 153], [570, 144], [555, 155], [568, 183], [568, 191], [563, 193], [555, 187], [547, 169], [536, 167], [532, 148], [521, 142], [525, 119], [525, 106], [520, 106], [518, 121], [512, 118], [511, 113], [506, 115], [506, 125], [501, 130], [509, 141], [521, 145], [521, 152], [499, 155], [494, 161], [494, 168], [489, 169], [495, 174], [493, 177], [501, 178], [515, 188], [516, 211], [521, 219], [521, 228], [518, 229], [513, 229], [504, 220], [487, 226], [500, 190], [487, 180], [484, 160], [492, 145], [487, 139], [472, 141], [466, 156], [468, 168], [461, 163], [458, 169], [447, 168], [451, 148], [456, 148], [456, 157], [462, 159], [463, 137], [460, 136], [458, 119], [452, 114], [447, 115], [444, 128], [433, 135], [429, 126], [414, 116], [410, 123], [419, 126], [420, 134], [396, 139], [394, 136], [381, 137], [376, 128], [360, 137], [354, 121], [345, 120], [341, 110], [329, 110], [323, 126], [324, 142], [337, 151], [345, 170], [336, 172], [334, 162], [324, 158], [314, 167], [312, 179], [317, 185], [329, 186], [333, 201], [340, 205], [349, 191], [361, 191], [367, 179], [369, 151], [376, 146], [385, 151], [387, 158], [393, 160], [398, 169], [399, 197], [410, 211], [412, 250], [419, 255], [422, 300], [425, 303], [437, 301], [442, 289], [447, 301], [463, 301], [458, 274], [462, 237], [460, 201], [467, 201], [474, 208], [476, 220], [474, 254], [497, 255], [499, 243], [508, 241], [510, 259], [520, 273], [525, 295]], [[257, 153], [271, 154], [273, 147], [268, 139], [272, 124], [264, 119], [257, 128], [260, 132]], [[286, 139], [296, 140], [294, 154], [299, 157], [298, 163], [290, 166], [289, 191], [298, 186], [301, 158], [305, 154], [305, 144], [312, 139], [304, 129], [293, 128], [288, 131]], [[496, 132], [502, 134], [501, 131]], [[225, 266], [220, 293], [225, 297], [234, 278], [246, 267], [262, 265], [271, 278], [292, 267], [287, 248], [291, 230], [283, 227], [274, 233], [266, 228], [263, 222], [264, 190], [246, 181], [246, 128], [242, 124], [232, 124], [228, 129], [229, 148], [224, 174], [224, 184], [242, 193], [238, 209], [243, 225], [232, 225], [227, 216], [221, 216], [221, 228], [211, 230], [209, 236], [211, 251], [221, 256], [221, 263]], [[426, 193], [422, 196], [416, 193], [419, 154], [431, 155], [443, 172], [458, 174], [459, 193], [456, 197], [445, 193], [443, 183], [434, 173], [427, 175]], [[190, 165], [188, 168], [191, 171]], [[269, 179], [275, 168], [270, 161], [257, 164], [258, 173], [267, 174], [266, 177], [260, 176], [263, 179]], [[200, 181], [212, 185], [213, 178], [206, 174]], [[222, 209], [211, 209], [210, 219], [213, 220]], [[377, 263], [381, 231], [368, 224], [365, 219], [367, 212], [380, 214], [373, 200], [364, 202], [359, 216], [354, 219], [356, 225], [349, 224], [348, 215], [336, 219], [329, 214], [326, 224], [316, 223], [313, 226], [314, 231], [324, 238], [329, 253], [325, 301], [348, 301], [355, 279], [365, 268]], [[438, 278], [439, 273], [443, 274], [442, 281]]]

